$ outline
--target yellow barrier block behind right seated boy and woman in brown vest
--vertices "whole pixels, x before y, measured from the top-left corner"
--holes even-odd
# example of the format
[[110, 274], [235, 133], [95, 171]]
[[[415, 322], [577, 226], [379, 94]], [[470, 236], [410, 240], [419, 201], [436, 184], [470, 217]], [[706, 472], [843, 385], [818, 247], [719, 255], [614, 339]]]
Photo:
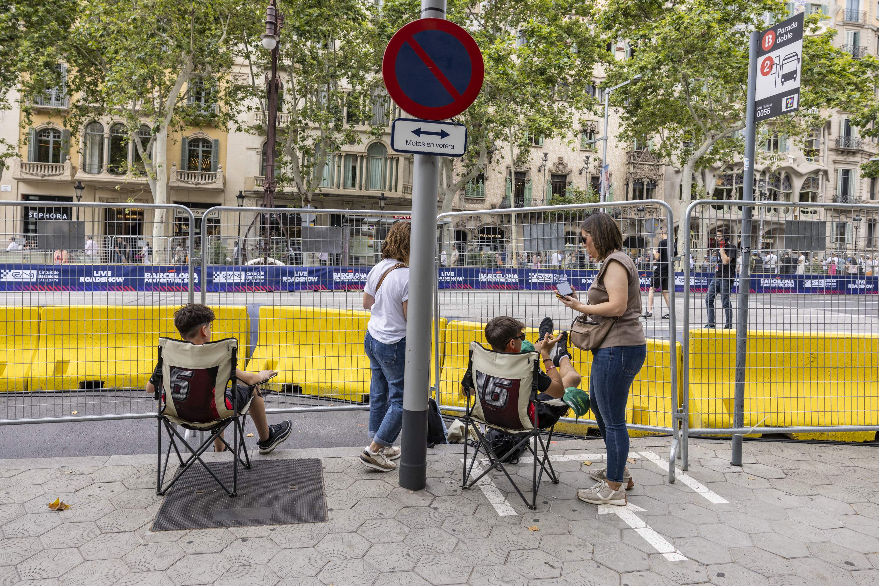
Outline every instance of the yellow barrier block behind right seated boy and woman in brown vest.
[[[446, 358], [440, 373], [439, 394], [443, 405], [466, 407], [467, 402], [461, 396], [461, 378], [467, 371], [469, 362], [469, 344], [476, 341], [488, 347], [485, 340], [485, 324], [480, 322], [448, 322], [446, 333]], [[527, 328], [527, 339], [534, 342], [537, 330]], [[569, 344], [571, 363], [583, 377], [580, 387], [588, 391], [589, 373], [592, 369], [592, 352], [581, 351]], [[680, 344], [677, 344], [677, 359], [682, 362]], [[672, 357], [669, 343], [664, 340], [647, 341], [647, 359], [638, 373], [628, 393], [626, 420], [628, 423], [671, 427], [672, 425]], [[573, 417], [573, 411], [568, 412]], [[588, 412], [584, 419], [594, 419]], [[642, 435], [633, 430], [632, 435]]]

